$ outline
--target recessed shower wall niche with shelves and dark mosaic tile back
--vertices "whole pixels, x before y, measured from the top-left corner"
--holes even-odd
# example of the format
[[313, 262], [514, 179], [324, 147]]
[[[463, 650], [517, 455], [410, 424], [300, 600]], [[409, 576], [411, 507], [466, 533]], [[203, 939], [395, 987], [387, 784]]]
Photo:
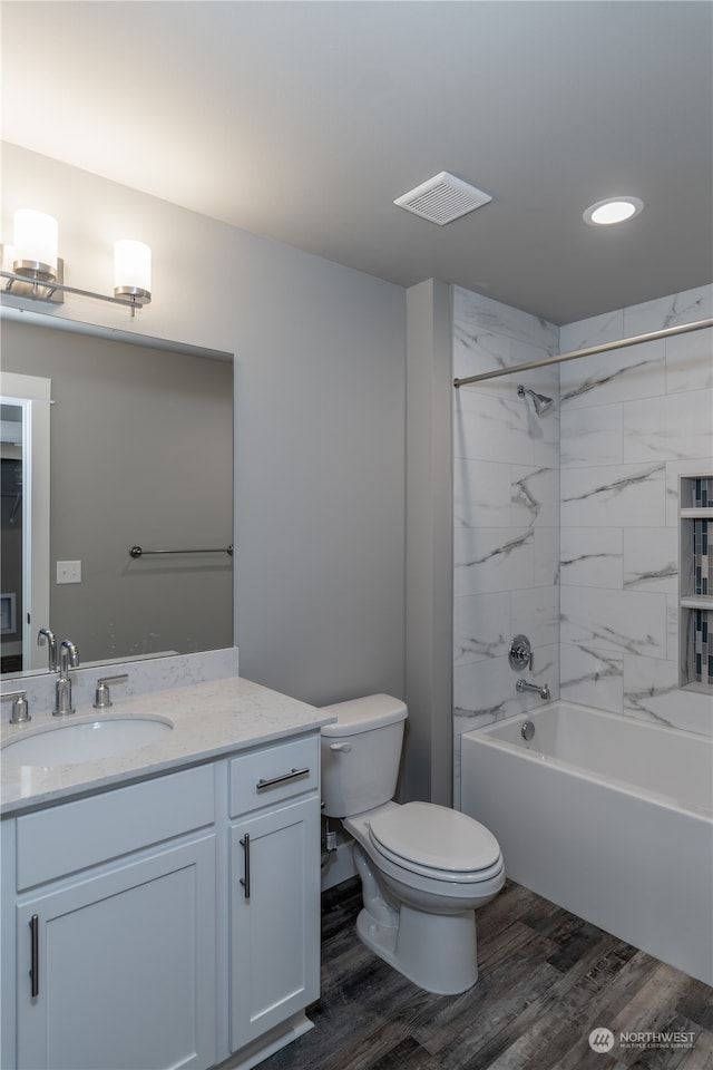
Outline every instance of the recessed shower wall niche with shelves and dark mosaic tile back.
[[713, 694], [713, 475], [681, 476], [678, 682]]

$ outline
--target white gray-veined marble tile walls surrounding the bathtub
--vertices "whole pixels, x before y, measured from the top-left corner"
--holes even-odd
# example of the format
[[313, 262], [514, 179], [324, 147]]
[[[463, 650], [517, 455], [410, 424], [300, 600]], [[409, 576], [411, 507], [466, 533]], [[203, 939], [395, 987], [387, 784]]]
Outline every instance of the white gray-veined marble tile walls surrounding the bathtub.
[[[453, 289], [453, 376], [709, 318], [713, 288], [557, 328]], [[519, 383], [555, 399], [538, 417]], [[711, 471], [710, 330], [453, 390], [453, 720], [530, 709], [508, 664], [554, 698], [713, 733], [678, 689], [678, 476]], [[456, 795], [458, 798], [458, 794]]]

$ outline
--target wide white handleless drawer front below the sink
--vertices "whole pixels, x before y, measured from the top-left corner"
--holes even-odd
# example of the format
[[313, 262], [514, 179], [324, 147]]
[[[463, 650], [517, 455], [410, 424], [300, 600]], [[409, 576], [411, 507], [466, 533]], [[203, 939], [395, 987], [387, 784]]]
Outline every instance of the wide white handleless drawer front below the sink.
[[19, 817], [18, 891], [212, 825], [213, 766]]

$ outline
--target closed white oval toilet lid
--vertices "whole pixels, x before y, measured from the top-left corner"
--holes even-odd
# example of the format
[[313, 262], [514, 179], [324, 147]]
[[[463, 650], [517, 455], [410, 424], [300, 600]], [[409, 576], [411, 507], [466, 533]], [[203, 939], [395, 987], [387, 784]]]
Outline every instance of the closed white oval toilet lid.
[[467, 814], [432, 802], [407, 802], [375, 815], [370, 835], [377, 848], [430, 869], [473, 873], [500, 862], [492, 833]]

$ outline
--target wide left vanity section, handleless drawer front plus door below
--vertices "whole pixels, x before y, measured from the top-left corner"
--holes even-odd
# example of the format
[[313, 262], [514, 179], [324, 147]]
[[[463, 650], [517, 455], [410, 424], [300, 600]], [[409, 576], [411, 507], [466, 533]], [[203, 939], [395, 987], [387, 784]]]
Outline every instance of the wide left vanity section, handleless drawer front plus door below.
[[17, 819], [18, 1070], [214, 1064], [214, 814], [208, 765]]

